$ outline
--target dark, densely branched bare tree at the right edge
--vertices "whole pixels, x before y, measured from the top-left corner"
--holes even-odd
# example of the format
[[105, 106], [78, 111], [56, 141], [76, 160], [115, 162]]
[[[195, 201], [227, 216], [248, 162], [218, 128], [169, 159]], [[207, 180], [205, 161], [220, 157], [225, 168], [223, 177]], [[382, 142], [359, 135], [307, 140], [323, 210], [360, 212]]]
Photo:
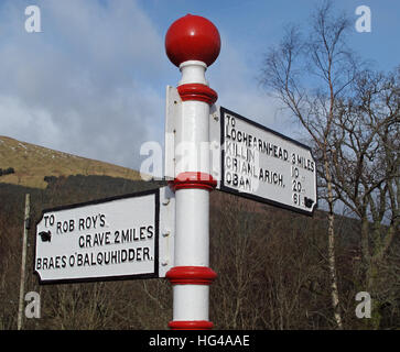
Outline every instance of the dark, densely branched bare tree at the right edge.
[[400, 223], [400, 85], [396, 74], [366, 70], [355, 95], [336, 107], [329, 167], [338, 199], [360, 219], [364, 286], [374, 294], [372, 327], [379, 327], [379, 266]]

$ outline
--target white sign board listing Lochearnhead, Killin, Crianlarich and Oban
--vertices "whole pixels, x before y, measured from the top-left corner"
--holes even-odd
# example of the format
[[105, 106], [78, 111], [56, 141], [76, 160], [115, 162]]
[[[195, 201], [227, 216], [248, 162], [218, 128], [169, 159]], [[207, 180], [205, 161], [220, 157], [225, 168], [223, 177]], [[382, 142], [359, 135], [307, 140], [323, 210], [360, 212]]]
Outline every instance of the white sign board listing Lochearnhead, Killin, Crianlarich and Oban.
[[209, 123], [212, 146], [220, 144], [219, 157], [212, 157], [220, 190], [313, 213], [316, 165], [310, 147], [223, 107]]

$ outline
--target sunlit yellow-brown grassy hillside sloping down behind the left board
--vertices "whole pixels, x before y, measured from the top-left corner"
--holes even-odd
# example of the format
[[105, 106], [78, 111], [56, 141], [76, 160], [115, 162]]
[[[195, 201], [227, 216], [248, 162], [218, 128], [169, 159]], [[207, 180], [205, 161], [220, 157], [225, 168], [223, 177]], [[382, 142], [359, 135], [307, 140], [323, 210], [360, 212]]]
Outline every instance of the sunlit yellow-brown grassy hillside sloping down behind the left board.
[[1, 183], [45, 188], [44, 176], [97, 175], [140, 179], [138, 172], [98, 162], [0, 135], [0, 169], [12, 167], [14, 173], [2, 175]]

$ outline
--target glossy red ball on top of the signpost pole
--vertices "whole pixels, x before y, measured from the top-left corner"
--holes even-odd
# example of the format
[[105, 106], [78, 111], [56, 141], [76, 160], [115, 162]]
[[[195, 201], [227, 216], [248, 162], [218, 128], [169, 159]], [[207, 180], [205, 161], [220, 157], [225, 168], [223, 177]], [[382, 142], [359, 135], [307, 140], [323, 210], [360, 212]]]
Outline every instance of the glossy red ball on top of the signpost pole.
[[219, 32], [207, 19], [186, 14], [172, 23], [167, 30], [165, 51], [170, 61], [177, 67], [190, 59], [209, 66], [219, 55]]

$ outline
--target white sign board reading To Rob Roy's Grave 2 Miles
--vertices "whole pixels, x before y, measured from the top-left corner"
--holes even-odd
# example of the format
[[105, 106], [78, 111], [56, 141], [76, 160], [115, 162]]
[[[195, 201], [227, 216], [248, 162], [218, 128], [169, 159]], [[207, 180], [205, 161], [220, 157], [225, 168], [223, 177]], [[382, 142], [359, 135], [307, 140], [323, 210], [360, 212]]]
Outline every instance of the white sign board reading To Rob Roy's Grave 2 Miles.
[[169, 187], [43, 211], [34, 268], [41, 283], [163, 277], [173, 266]]

